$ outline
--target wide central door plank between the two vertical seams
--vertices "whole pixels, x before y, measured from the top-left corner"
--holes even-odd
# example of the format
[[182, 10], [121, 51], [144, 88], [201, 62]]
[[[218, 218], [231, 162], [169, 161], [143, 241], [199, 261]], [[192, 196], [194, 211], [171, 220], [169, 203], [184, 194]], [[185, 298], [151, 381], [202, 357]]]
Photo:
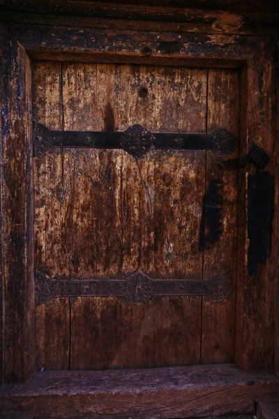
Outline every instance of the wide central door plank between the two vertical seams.
[[[90, 77], [85, 75], [89, 68], [82, 65], [69, 64], [68, 71], [71, 75], [65, 80], [82, 78], [71, 98], [88, 103], [87, 113], [78, 111], [83, 128], [123, 131], [140, 123], [151, 131], [163, 131], [168, 119], [169, 131], [205, 132], [206, 70], [98, 64], [96, 120], [88, 117], [96, 115], [91, 108], [96, 100], [93, 68]], [[139, 95], [141, 87], [148, 90], [144, 98]], [[179, 111], [170, 112], [174, 106]], [[84, 105], [73, 103], [73, 109], [77, 115]], [[204, 152], [156, 151], [137, 163], [121, 150], [82, 150], [75, 156], [76, 278], [133, 270], [170, 279], [202, 277], [198, 247]], [[200, 300], [156, 297], [133, 307], [114, 297], [71, 299], [71, 367], [197, 363]]]

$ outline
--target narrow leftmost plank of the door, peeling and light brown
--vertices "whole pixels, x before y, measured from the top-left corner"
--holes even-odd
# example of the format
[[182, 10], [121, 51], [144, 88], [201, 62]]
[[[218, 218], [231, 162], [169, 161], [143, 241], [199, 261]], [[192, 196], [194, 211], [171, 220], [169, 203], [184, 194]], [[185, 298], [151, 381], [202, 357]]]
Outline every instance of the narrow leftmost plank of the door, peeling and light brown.
[[[37, 122], [50, 129], [63, 128], [61, 63], [33, 65], [33, 110]], [[73, 175], [63, 172], [68, 156], [51, 150], [34, 158], [35, 267], [52, 277], [68, 278], [70, 249], [69, 189]], [[68, 368], [70, 314], [68, 299], [61, 298], [36, 309], [36, 362], [38, 367]]]

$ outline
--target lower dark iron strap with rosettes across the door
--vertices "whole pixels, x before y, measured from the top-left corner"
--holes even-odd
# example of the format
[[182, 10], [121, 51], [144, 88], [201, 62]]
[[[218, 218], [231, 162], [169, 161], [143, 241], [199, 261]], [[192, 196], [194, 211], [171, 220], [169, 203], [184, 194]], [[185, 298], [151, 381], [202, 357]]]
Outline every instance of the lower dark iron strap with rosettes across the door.
[[223, 274], [213, 275], [206, 281], [151, 279], [143, 272], [135, 272], [116, 280], [110, 278], [66, 281], [50, 279], [36, 272], [36, 305], [57, 297], [125, 297], [133, 304], [142, 304], [158, 295], [204, 295], [212, 302], [222, 302], [233, 291], [234, 285]]

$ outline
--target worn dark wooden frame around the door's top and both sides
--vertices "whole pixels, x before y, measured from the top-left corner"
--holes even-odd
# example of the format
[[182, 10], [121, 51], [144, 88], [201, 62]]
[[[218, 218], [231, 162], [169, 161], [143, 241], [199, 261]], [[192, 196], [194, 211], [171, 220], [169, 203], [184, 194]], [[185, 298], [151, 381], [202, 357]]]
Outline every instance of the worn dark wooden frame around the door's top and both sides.
[[[188, 11], [188, 18], [189, 18]], [[197, 17], [197, 11], [192, 11]], [[175, 15], [175, 12], [174, 12]], [[173, 15], [173, 16], [174, 16]], [[200, 15], [200, 13], [199, 13]], [[226, 13], [229, 16], [229, 13]], [[235, 15], [234, 15], [235, 16]], [[10, 18], [9, 18], [10, 19]], [[6, 17], [3, 20], [8, 21]], [[236, 365], [241, 372], [279, 373], [278, 321], [278, 122], [276, 122], [277, 31], [226, 27], [205, 33], [204, 21], [174, 30], [169, 22], [91, 20], [86, 27], [1, 23], [1, 298], [2, 383], [24, 383], [36, 372], [33, 281], [33, 174], [31, 61], [90, 61], [239, 68], [241, 155], [251, 142], [271, 156], [265, 172], [275, 186], [266, 261], [248, 274], [248, 208], [251, 166], [241, 169], [236, 304]], [[29, 17], [26, 22], [34, 20]], [[56, 18], [57, 20], [57, 18]], [[40, 17], [38, 17], [40, 22]], [[71, 25], [74, 24], [73, 18]], [[84, 22], [84, 21], [82, 21]], [[150, 22], [149, 22], [150, 23]], [[209, 26], [206, 20], [207, 27]], [[149, 25], [150, 26], [150, 25]], [[111, 29], [110, 29], [111, 28]], [[176, 24], [177, 28], [177, 24]], [[190, 29], [189, 29], [190, 28]], [[264, 32], [264, 31], [263, 31]], [[271, 197], [272, 199], [272, 197]], [[259, 223], [261, 220], [259, 219]], [[273, 232], [273, 234], [272, 234]], [[277, 299], [276, 299], [277, 295]], [[276, 303], [277, 302], [277, 303]], [[276, 338], [277, 337], [277, 338]], [[200, 368], [197, 366], [197, 368]], [[70, 374], [70, 373], [69, 373]]]

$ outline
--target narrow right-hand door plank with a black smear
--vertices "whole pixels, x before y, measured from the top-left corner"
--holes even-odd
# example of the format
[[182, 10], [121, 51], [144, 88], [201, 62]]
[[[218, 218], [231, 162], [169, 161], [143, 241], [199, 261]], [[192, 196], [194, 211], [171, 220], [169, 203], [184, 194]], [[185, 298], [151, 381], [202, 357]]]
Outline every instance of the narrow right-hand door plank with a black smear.
[[[223, 127], [239, 140], [239, 72], [209, 69], [208, 133]], [[204, 278], [223, 272], [236, 286], [239, 147], [228, 156], [206, 152], [204, 201]], [[232, 362], [236, 293], [220, 304], [203, 298], [202, 362]]]

